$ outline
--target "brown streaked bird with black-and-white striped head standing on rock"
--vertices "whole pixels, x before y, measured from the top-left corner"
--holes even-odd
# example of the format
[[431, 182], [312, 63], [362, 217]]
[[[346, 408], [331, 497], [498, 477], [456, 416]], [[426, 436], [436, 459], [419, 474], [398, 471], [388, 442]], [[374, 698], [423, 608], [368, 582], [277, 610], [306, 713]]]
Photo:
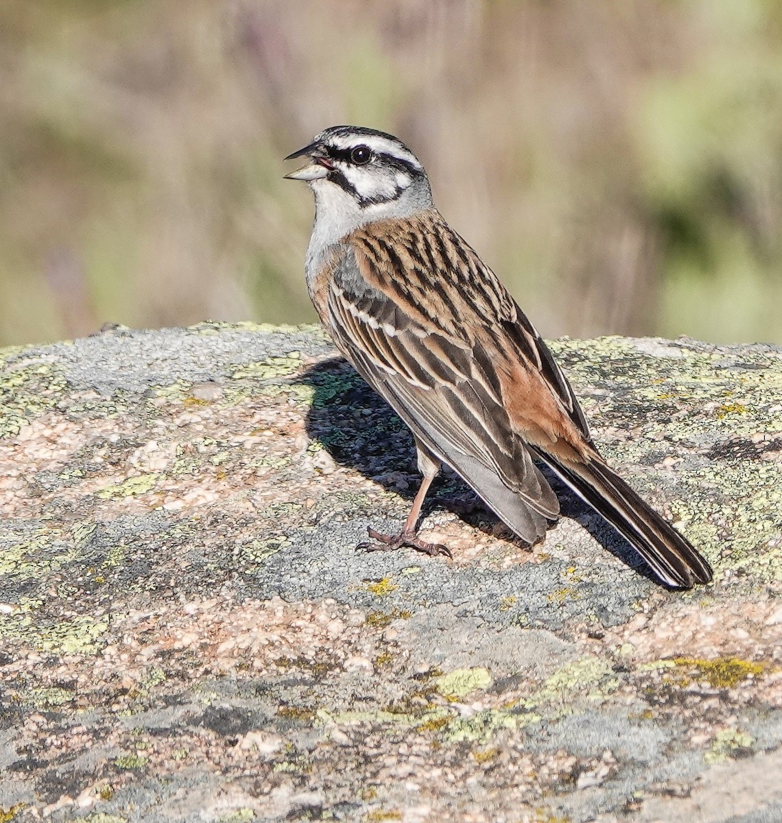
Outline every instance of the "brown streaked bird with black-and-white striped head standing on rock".
[[608, 466], [570, 383], [510, 292], [452, 229], [421, 161], [393, 135], [332, 126], [285, 159], [314, 193], [310, 298], [333, 342], [411, 430], [421, 486], [402, 531], [370, 546], [446, 554], [417, 532], [445, 463], [524, 542], [560, 504], [547, 465], [659, 580], [692, 588], [709, 563]]

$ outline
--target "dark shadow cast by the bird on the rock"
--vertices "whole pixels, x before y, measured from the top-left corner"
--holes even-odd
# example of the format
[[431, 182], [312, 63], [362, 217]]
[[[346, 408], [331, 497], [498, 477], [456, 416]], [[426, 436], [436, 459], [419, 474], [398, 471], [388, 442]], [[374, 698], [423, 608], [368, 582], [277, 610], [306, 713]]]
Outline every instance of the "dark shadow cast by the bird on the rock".
[[[416, 448], [407, 426], [375, 393], [356, 370], [334, 357], [321, 361], [296, 378], [297, 384], [313, 390], [306, 427], [310, 440], [323, 444], [333, 459], [351, 467], [409, 500], [421, 481]], [[542, 472], [560, 500], [561, 515], [580, 524], [606, 551], [644, 577], [659, 584], [654, 573], [636, 555], [629, 543], [593, 512], [580, 497], [561, 482], [547, 466]], [[493, 535], [500, 519], [461, 477], [445, 470], [432, 484], [422, 514], [443, 508], [474, 528]], [[518, 540], [507, 529], [509, 540]], [[519, 541], [521, 544], [521, 541]]]

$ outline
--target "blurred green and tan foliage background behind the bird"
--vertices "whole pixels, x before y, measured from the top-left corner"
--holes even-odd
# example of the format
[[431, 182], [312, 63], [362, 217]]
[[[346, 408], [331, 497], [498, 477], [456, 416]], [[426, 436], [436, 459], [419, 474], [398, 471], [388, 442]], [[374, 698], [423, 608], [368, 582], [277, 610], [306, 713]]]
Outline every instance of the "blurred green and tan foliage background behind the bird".
[[779, 0], [3, 0], [0, 344], [314, 319], [282, 157], [335, 123], [547, 336], [782, 343]]

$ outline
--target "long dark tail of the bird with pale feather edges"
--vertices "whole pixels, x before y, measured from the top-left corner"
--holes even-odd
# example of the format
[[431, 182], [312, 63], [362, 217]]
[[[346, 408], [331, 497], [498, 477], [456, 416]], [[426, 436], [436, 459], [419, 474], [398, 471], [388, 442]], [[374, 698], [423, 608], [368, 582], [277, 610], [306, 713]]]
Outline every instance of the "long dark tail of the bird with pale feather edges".
[[605, 463], [559, 463], [544, 452], [538, 455], [611, 523], [669, 586], [692, 588], [710, 581], [711, 567], [694, 546]]

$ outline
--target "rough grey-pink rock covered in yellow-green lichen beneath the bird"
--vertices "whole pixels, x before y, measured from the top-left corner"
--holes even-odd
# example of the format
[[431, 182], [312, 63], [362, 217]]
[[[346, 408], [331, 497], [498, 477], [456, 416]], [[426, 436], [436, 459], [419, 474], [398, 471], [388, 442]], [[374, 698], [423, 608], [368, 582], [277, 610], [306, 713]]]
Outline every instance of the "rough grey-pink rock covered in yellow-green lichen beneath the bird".
[[356, 551], [414, 449], [316, 328], [0, 351], [0, 821], [782, 819], [782, 351], [552, 348], [714, 584], [450, 474]]

